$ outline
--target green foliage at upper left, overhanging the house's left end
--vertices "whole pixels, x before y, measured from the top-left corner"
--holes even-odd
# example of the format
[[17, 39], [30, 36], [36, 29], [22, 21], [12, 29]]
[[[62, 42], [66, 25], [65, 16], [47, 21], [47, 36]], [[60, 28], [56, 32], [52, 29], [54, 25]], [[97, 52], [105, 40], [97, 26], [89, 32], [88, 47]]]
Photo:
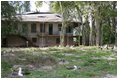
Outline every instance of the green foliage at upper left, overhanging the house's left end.
[[[18, 29], [18, 23], [21, 21], [20, 17], [16, 17], [17, 13], [30, 11], [29, 1], [2, 1], [1, 2], [1, 37], [2, 40], [6, 38], [7, 35], [27, 35], [28, 27], [23, 27]], [[26, 23], [27, 24], [27, 23]], [[22, 31], [22, 32], [21, 32]]]

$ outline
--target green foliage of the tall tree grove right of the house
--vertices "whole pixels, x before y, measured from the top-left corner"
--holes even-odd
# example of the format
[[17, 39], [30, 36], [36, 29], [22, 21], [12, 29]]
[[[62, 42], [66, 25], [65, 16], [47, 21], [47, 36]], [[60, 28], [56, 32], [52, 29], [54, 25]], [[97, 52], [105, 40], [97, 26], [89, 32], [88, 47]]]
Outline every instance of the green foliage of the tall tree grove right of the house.
[[[61, 2], [62, 8], [63, 8], [62, 12], [61, 12], [61, 7], [60, 7], [59, 2]], [[109, 41], [108, 40], [106, 41], [106, 39], [108, 39], [108, 36], [104, 34], [102, 36], [102, 32], [103, 33], [106, 32], [105, 29], [101, 30], [102, 26], [104, 28], [104, 24], [108, 25], [107, 23], [110, 23], [111, 25], [111, 26], [107, 26], [107, 27], [110, 27], [107, 29], [110, 30], [112, 34], [114, 34], [114, 36], [113, 35], [110, 36], [110, 40], [113, 40], [110, 42], [110, 44], [111, 43], [113, 44], [115, 42], [116, 21], [117, 21], [116, 20], [116, 17], [117, 17], [116, 1], [107, 1], [107, 2], [106, 1], [55, 1], [55, 2], [52, 2], [51, 5], [52, 5], [52, 12], [57, 12], [61, 15], [63, 13], [64, 21], [73, 20], [73, 19], [79, 19], [81, 21], [82, 26], [80, 26], [80, 28], [82, 29], [78, 31], [82, 33], [83, 43], [84, 42], [86, 43], [86, 39], [88, 38], [88, 36], [90, 36], [89, 32], [92, 33], [92, 31], [94, 30], [95, 30], [94, 32], [95, 34], [93, 33], [93, 35], [96, 35], [95, 36], [96, 38], [92, 38], [92, 37], [91, 38], [96, 40], [96, 44], [99, 43], [100, 45], [102, 43], [101, 42], [102, 37], [103, 37], [103, 44], [108, 43]], [[71, 17], [71, 19], [68, 16]], [[89, 22], [88, 18], [90, 16], [92, 16], [95, 19], [94, 20], [95, 22], [93, 23], [95, 25], [95, 28], [92, 28], [92, 29], [90, 28], [90, 25], [88, 23]], [[108, 19], [110, 19], [110, 22], [108, 21]], [[68, 26], [66, 22], [64, 25], [66, 27]], [[109, 34], [109, 32], [106, 32], [106, 33], [107, 35]]]

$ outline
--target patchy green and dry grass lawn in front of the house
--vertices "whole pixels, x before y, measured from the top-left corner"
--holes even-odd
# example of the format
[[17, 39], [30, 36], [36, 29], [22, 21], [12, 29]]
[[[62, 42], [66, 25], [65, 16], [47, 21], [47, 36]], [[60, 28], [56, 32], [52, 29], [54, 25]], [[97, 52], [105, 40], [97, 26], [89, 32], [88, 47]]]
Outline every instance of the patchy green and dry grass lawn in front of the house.
[[[8, 50], [7, 50], [8, 49]], [[15, 56], [9, 56], [10, 51], [14, 50]], [[99, 78], [104, 77], [104, 73], [117, 74], [117, 57], [107, 60], [104, 57], [109, 57], [116, 54], [116, 50], [100, 50], [98, 47], [49, 47], [46, 50], [40, 48], [2, 48], [1, 52], [7, 51], [8, 56], [2, 56], [2, 77], [9, 77], [6, 74], [11, 73], [11, 68], [14, 65], [23, 65], [24, 71], [31, 72], [30, 75], [25, 75], [25, 78]], [[72, 54], [66, 56], [66, 54]], [[98, 59], [93, 59], [98, 58]], [[25, 59], [25, 60], [23, 60]], [[69, 64], [59, 64], [58, 59], [65, 59]], [[78, 60], [81, 60], [79, 62]], [[10, 63], [9, 63], [10, 62]], [[36, 69], [29, 70], [26, 65], [33, 65]], [[81, 66], [80, 70], [67, 70], [66, 66]], [[51, 66], [52, 69], [41, 69], [43, 66]]]

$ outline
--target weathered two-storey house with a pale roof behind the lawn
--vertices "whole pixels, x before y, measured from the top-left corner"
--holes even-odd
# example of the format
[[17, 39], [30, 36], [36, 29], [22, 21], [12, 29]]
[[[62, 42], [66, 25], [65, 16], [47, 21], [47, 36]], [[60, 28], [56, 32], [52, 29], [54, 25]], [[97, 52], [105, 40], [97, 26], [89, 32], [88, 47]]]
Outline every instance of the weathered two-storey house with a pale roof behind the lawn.
[[[7, 46], [26, 46], [27, 41], [32, 46], [58, 46], [60, 44], [60, 34], [62, 18], [58, 14], [49, 12], [34, 12], [17, 15], [22, 18], [17, 24], [21, 36], [27, 40], [22, 40], [16, 35], [9, 35]], [[73, 45], [73, 28], [78, 26], [78, 22], [71, 21], [66, 28], [64, 45]], [[27, 29], [27, 31], [26, 31]], [[27, 32], [27, 34], [25, 34]]]

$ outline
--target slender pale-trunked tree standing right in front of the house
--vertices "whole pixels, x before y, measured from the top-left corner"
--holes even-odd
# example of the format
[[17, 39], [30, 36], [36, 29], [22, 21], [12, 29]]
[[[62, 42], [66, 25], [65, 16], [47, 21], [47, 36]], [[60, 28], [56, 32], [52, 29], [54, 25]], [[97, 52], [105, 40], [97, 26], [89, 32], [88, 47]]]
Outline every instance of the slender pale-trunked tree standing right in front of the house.
[[64, 46], [64, 37], [65, 37], [65, 29], [67, 27], [67, 21], [69, 20], [69, 4], [70, 2], [67, 1], [59, 1], [52, 3], [52, 11], [61, 14], [62, 17], [62, 27], [61, 27], [61, 35], [60, 35], [60, 45]]

